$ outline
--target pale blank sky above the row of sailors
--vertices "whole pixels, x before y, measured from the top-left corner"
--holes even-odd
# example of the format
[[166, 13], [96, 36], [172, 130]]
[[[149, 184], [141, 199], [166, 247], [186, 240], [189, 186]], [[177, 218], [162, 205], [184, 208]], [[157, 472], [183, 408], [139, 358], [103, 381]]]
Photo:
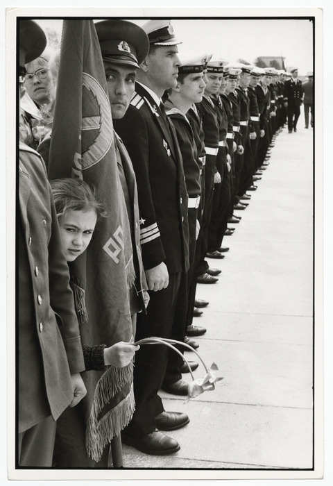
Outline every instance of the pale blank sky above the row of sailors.
[[[38, 20], [61, 33], [60, 20]], [[132, 19], [138, 25], [146, 20]], [[213, 53], [216, 58], [253, 62], [258, 56], [284, 56], [300, 75], [313, 70], [312, 23], [308, 19], [180, 19], [172, 21], [180, 58]]]

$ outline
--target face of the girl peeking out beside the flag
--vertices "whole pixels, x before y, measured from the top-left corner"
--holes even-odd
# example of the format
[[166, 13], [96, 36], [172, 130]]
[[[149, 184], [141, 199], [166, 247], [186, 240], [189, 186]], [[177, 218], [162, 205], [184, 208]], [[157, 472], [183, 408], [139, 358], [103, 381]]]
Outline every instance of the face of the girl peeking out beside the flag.
[[67, 262], [74, 262], [87, 248], [96, 226], [97, 215], [89, 211], [67, 210], [60, 220], [62, 251]]

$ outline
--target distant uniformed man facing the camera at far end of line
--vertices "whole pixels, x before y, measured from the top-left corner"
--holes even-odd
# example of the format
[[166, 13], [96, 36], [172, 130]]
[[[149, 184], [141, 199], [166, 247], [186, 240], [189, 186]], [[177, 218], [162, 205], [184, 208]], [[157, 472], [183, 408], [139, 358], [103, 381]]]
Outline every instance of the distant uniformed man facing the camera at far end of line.
[[284, 106], [287, 106], [288, 132], [297, 132], [297, 121], [300, 117], [300, 106], [302, 104], [302, 81], [298, 76], [297, 67], [290, 70], [291, 79], [284, 83]]

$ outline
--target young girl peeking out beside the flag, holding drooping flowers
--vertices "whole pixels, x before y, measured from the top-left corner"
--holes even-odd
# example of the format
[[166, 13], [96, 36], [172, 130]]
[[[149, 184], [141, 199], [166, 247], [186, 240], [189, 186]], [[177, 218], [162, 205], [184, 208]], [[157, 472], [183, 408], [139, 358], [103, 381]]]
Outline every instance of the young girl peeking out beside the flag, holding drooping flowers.
[[[105, 211], [97, 201], [92, 187], [80, 179], [52, 181], [51, 187], [60, 226], [62, 251], [67, 262], [73, 262], [87, 249], [96, 221], [105, 216]], [[139, 346], [126, 342], [118, 342], [110, 347], [105, 344], [93, 347], [83, 344], [82, 347], [86, 371], [103, 371], [108, 365], [125, 367], [139, 349]], [[105, 450], [105, 453], [108, 451]], [[67, 408], [58, 419], [53, 462], [56, 467], [94, 467], [96, 464], [88, 458], [85, 449], [82, 408]]]

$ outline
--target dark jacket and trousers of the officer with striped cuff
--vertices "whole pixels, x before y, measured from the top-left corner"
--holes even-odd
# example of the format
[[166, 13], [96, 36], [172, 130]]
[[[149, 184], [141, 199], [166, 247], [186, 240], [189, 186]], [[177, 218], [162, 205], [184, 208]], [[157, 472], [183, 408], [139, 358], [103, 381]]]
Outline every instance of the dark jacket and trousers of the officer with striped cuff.
[[[164, 107], [140, 83], [126, 115], [114, 120], [114, 128], [130, 154], [137, 178], [144, 269], [165, 262], [169, 271], [168, 287], [150, 292], [148, 314], [137, 316], [137, 340], [152, 335], [169, 337], [180, 274], [189, 268], [188, 198], [176, 133]], [[133, 434], [155, 430], [155, 416], [164, 410], [157, 392], [166, 364], [164, 346], [142, 346], [136, 353]]]

